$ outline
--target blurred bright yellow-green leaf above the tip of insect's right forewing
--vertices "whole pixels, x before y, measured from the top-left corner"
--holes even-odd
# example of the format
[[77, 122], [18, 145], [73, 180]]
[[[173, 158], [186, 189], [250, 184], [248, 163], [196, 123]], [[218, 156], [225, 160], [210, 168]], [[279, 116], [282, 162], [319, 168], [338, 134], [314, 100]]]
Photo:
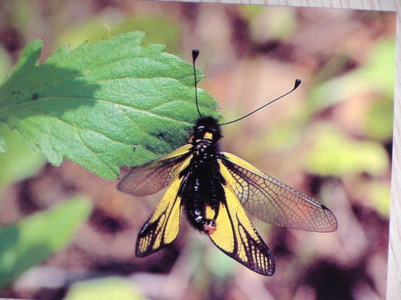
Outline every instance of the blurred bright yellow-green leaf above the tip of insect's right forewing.
[[342, 176], [360, 172], [382, 175], [387, 171], [387, 153], [379, 143], [352, 140], [328, 126], [314, 132], [314, 146], [306, 166], [310, 172]]

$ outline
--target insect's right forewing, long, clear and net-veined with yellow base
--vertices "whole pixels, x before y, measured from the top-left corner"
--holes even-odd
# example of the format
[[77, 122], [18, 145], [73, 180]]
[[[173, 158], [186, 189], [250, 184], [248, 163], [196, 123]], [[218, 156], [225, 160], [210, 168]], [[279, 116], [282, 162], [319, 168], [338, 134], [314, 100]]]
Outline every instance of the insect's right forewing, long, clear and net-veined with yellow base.
[[337, 229], [334, 214], [317, 200], [274, 179], [240, 157], [219, 153], [223, 176], [244, 207], [270, 224], [306, 231]]

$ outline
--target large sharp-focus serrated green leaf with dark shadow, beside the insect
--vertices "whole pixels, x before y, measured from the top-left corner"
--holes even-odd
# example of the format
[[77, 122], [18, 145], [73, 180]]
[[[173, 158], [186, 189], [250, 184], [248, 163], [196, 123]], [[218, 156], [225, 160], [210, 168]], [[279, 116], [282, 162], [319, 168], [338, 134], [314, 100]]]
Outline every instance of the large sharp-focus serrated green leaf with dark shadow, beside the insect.
[[[197, 118], [193, 70], [163, 45], [142, 47], [144, 38], [62, 47], [39, 65], [42, 41], [31, 42], [0, 86], [0, 120], [52, 164], [67, 157], [109, 179], [171, 151]], [[202, 113], [220, 117], [212, 96], [198, 95]]]

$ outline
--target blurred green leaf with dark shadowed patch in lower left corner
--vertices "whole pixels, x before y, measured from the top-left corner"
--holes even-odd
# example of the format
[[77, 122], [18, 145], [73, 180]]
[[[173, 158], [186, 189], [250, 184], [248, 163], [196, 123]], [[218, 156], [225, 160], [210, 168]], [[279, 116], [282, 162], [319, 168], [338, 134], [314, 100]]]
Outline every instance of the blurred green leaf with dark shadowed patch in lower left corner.
[[82, 197], [0, 227], [0, 287], [63, 248], [89, 216], [91, 204]]

